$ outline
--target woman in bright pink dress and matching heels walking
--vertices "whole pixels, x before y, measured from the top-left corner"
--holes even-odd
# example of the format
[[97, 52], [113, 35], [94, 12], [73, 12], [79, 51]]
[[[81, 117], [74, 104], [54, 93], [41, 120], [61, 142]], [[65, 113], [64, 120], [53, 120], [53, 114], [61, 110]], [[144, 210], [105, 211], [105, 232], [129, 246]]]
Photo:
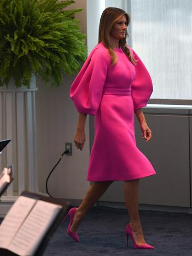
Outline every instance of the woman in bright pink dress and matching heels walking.
[[79, 242], [76, 231], [83, 216], [114, 180], [124, 180], [124, 198], [130, 218], [125, 229], [127, 241], [130, 236], [134, 248], [154, 249], [143, 237], [138, 215], [138, 185], [140, 178], [156, 173], [136, 147], [134, 134], [135, 113], [142, 137], [146, 141], [151, 138], [141, 108], [146, 106], [153, 87], [143, 62], [126, 45], [129, 23], [130, 16], [124, 10], [113, 7], [104, 10], [99, 44], [91, 51], [71, 86], [70, 97], [79, 112], [74, 143], [82, 150], [87, 114], [95, 115], [95, 138], [87, 176], [92, 184], [81, 205], [68, 212], [68, 234]]

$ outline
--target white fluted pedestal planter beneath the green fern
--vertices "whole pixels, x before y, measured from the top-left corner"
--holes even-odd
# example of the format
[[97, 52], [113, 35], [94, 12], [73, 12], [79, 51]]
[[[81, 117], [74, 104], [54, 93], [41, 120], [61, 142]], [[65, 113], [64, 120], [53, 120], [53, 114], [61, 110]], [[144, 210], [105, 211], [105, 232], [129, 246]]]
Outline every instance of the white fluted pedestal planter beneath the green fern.
[[[2, 201], [14, 201], [23, 190], [38, 191], [36, 155], [36, 77], [30, 89], [15, 88], [13, 81], [0, 87], [0, 139], [11, 138], [0, 156], [1, 171], [14, 165], [14, 182]], [[1, 214], [1, 212], [0, 212]]]

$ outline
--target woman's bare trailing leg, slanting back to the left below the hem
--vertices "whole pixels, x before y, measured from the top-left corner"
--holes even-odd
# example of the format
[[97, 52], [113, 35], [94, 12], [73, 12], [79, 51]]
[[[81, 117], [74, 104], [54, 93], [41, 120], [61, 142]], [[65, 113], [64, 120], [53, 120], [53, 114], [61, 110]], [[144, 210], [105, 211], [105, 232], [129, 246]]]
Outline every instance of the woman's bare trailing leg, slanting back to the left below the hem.
[[87, 211], [98, 201], [98, 199], [104, 194], [106, 189], [113, 183], [109, 182], [93, 182], [89, 187], [86, 196], [81, 202], [80, 206], [76, 210], [74, 215], [73, 222], [71, 225], [71, 232], [76, 232], [81, 219], [86, 215]]

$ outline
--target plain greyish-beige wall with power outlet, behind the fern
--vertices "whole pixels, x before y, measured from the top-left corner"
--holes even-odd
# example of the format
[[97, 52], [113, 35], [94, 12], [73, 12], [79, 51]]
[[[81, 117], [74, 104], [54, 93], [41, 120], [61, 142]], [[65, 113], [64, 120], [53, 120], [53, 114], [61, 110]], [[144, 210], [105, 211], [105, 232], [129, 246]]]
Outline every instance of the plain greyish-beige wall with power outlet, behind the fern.
[[[70, 5], [83, 8], [76, 18], [81, 20], [82, 33], [87, 33], [86, 0]], [[54, 197], [82, 199], [90, 183], [86, 181], [89, 161], [89, 115], [86, 122], [86, 143], [82, 151], [74, 146], [78, 112], [69, 97], [69, 89], [75, 76], [63, 76], [59, 88], [45, 88], [38, 78], [36, 94], [37, 153], [39, 191], [46, 193], [46, 178], [52, 167], [65, 151], [65, 142], [72, 142], [72, 156], [63, 156], [58, 167], [50, 176], [49, 193]]]

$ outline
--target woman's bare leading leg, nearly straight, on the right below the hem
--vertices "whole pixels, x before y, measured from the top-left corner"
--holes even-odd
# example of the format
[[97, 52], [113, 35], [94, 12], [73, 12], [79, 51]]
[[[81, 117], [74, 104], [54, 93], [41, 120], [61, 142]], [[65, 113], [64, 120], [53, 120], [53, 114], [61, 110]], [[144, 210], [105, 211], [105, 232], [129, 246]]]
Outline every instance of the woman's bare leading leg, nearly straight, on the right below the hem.
[[124, 198], [130, 218], [130, 226], [137, 244], [145, 243], [140, 216], [138, 214], [138, 185], [139, 179], [124, 182]]

